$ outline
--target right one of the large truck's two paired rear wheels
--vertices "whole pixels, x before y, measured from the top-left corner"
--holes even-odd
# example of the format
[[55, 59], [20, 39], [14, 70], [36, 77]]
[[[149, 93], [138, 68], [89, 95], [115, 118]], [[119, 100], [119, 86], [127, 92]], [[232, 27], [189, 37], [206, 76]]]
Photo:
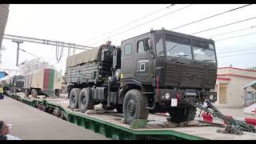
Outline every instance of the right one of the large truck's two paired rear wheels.
[[94, 110], [94, 101], [91, 97], [90, 88], [83, 88], [79, 94], [78, 107], [81, 113], [86, 110]]

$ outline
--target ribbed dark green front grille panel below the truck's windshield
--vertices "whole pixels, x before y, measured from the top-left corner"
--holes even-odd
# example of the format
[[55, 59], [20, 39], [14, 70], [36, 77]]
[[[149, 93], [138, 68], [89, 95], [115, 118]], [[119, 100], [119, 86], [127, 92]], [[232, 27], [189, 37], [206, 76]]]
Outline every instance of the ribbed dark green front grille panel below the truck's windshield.
[[166, 62], [166, 86], [214, 88], [217, 68]]

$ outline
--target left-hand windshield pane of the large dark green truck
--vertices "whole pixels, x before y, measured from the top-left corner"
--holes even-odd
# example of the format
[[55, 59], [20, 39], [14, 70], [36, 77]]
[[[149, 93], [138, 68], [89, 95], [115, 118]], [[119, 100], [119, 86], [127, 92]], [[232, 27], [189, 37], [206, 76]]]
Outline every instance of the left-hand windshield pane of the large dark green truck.
[[192, 59], [191, 46], [189, 43], [189, 39], [185, 38], [166, 38], [166, 55]]

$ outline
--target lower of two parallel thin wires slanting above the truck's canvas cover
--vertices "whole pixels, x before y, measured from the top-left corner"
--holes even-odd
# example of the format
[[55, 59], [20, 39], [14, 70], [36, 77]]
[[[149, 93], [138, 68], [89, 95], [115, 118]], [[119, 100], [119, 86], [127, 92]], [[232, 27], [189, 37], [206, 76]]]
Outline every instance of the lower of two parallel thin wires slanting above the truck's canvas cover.
[[[192, 5], [193, 5], [193, 4], [190, 4], [189, 6], [192, 6]], [[139, 24], [138, 26], [142, 26], [142, 25], [145, 25], [146, 23], [153, 22], [153, 21], [155, 21], [155, 20], [157, 20], [157, 19], [159, 19], [159, 18], [165, 17], [165, 16], [167, 16], [167, 15], [169, 15], [169, 14], [173, 14], [174, 12], [177, 12], [177, 11], [179, 11], [179, 10], [186, 9], [186, 8], [189, 7], [189, 6], [184, 6], [184, 7], [180, 8], [180, 9], [178, 9], [178, 10], [174, 10], [174, 11], [172, 11], [172, 12], [170, 12], [170, 13], [168, 13], [168, 14], [164, 14], [164, 15], [158, 17], [158, 18], [154, 18], [154, 19], [152, 19], [152, 20], [150, 20], [150, 21], [143, 22], [142, 24]], [[126, 33], [126, 32], [129, 31], [129, 30], [133, 30], [134, 28], [137, 28], [138, 26], [134, 26], [134, 27], [132, 27], [132, 28], [130, 28], [130, 29], [128, 29], [128, 30], [124, 30], [124, 31], [122, 31], [122, 32], [120, 32], [120, 33], [118, 33], [118, 34], [111, 35], [110, 37], [107, 37], [107, 38], [112, 38], [112, 37], [117, 36], [117, 35], [119, 35], [119, 34]], [[97, 41], [97, 42], [93, 42], [93, 43], [91, 43], [91, 44], [89, 44], [89, 45], [93, 45], [93, 44], [95, 44], [95, 43], [102, 42], [103, 40], [106, 40], [107, 38], [103, 38], [103, 39], [101, 39], [101, 40], [99, 40], [99, 41]]]

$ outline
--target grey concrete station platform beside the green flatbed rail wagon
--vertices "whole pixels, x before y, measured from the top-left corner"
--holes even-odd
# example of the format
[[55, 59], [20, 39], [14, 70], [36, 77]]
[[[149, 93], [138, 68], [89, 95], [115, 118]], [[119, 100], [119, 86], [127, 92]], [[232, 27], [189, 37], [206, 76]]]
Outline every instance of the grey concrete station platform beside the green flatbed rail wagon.
[[109, 139], [8, 97], [0, 100], [0, 120], [12, 125], [10, 134], [24, 140]]

